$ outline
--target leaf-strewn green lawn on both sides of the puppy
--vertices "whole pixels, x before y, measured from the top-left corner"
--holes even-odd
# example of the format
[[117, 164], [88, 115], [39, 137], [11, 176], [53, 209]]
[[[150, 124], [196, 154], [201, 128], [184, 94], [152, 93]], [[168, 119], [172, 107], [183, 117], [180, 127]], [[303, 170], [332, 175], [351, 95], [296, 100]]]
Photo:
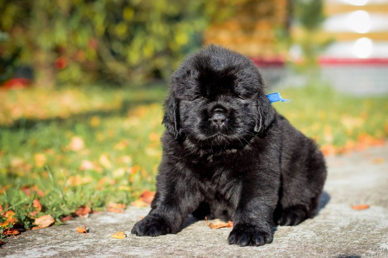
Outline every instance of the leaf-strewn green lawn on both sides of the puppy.
[[[34, 198], [44, 208], [35, 217], [51, 214], [60, 223], [82, 205], [97, 210], [110, 201], [128, 204], [142, 190], [155, 190], [165, 88], [0, 94], [7, 103], [0, 107], [0, 204], [16, 212], [26, 228], [32, 225]], [[356, 98], [323, 86], [281, 94], [292, 101], [274, 103], [275, 108], [319, 144], [340, 147], [360, 135], [388, 135], [388, 96]], [[82, 139], [82, 150], [69, 149], [74, 137]], [[94, 168], [81, 169], [86, 161]], [[28, 196], [23, 187], [43, 196], [39, 191]]]

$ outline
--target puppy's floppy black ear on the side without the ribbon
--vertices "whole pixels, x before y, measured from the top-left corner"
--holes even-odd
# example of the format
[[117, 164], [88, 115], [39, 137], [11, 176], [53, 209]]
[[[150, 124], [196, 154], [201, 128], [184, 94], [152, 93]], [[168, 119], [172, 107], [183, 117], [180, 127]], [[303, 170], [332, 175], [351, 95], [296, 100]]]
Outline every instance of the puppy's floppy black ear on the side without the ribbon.
[[179, 120], [179, 100], [170, 92], [164, 102], [164, 115], [162, 124], [176, 139], [181, 137]]

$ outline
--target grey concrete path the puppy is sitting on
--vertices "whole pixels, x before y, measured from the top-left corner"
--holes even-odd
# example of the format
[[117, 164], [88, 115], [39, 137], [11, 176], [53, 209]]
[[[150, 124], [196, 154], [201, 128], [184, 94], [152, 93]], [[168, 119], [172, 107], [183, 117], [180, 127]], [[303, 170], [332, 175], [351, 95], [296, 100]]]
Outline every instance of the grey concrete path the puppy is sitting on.
[[[148, 208], [100, 212], [64, 226], [9, 237], [0, 257], [388, 257], [388, 146], [327, 158], [322, 209], [296, 227], [275, 228], [274, 243], [238, 247], [226, 242], [230, 228], [213, 230], [190, 218], [176, 235], [136, 237], [129, 232]], [[355, 211], [350, 205], [370, 204]], [[83, 235], [76, 226], [86, 224]], [[112, 239], [124, 230], [128, 237]]]

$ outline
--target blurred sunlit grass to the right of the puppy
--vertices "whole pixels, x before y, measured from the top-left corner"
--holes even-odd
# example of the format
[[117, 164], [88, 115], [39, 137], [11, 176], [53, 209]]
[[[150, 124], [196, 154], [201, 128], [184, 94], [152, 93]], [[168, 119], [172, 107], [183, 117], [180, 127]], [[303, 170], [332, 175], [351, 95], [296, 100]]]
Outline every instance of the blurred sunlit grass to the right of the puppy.
[[388, 95], [356, 97], [324, 85], [281, 90], [290, 103], [275, 108], [320, 145], [351, 148], [357, 141], [388, 136]]

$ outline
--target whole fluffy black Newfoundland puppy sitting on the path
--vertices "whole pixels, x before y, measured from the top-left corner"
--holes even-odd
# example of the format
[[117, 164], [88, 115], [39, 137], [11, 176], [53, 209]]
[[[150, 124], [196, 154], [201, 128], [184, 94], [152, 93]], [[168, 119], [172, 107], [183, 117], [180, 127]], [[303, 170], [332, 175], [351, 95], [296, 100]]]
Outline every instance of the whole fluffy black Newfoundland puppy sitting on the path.
[[131, 233], [177, 233], [190, 213], [232, 220], [230, 244], [263, 245], [272, 228], [318, 209], [326, 167], [315, 143], [276, 113], [247, 57], [210, 45], [171, 77], [163, 157], [149, 214]]

